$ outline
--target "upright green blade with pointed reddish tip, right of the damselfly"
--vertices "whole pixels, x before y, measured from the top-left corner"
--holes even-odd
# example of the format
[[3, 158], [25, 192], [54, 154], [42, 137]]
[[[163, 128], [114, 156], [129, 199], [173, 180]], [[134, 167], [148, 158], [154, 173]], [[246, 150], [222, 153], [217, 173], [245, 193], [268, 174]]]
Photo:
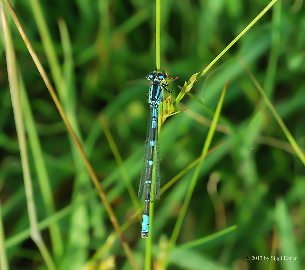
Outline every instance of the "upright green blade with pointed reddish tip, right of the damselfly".
[[[214, 135], [214, 132], [215, 132], [215, 129], [216, 129], [216, 126], [217, 126], [217, 122], [218, 122], [219, 115], [220, 115], [220, 112], [221, 112], [222, 104], [223, 104], [223, 101], [224, 101], [224, 95], [225, 95], [225, 92], [227, 90], [227, 85], [228, 85], [228, 81], [227, 81], [226, 85], [224, 86], [224, 88], [222, 90], [221, 97], [220, 97], [219, 102], [217, 104], [217, 108], [215, 110], [215, 115], [213, 117], [211, 127], [209, 129], [208, 135], [206, 136], [206, 141], [204, 142], [204, 145], [203, 145], [202, 155], [205, 155], [208, 152], [211, 141], [213, 139], [213, 135]], [[196, 185], [196, 182], [197, 182], [197, 179], [198, 179], [200, 169], [202, 167], [203, 162], [204, 162], [204, 158], [202, 160], [200, 160], [200, 162], [197, 164], [196, 170], [193, 174], [193, 177], [192, 177], [191, 183], [189, 185], [189, 188], [188, 188], [185, 200], [183, 202], [181, 211], [179, 213], [177, 222], [174, 226], [173, 233], [170, 237], [170, 243], [171, 243], [172, 246], [174, 246], [176, 244], [178, 234], [180, 232], [181, 225], [182, 225], [183, 219], [185, 217], [185, 214], [186, 214], [186, 211], [187, 211], [187, 208], [188, 208], [188, 204], [191, 200], [191, 197], [192, 197], [192, 194], [193, 194], [193, 191], [194, 191], [194, 188], [195, 188], [195, 185]]]

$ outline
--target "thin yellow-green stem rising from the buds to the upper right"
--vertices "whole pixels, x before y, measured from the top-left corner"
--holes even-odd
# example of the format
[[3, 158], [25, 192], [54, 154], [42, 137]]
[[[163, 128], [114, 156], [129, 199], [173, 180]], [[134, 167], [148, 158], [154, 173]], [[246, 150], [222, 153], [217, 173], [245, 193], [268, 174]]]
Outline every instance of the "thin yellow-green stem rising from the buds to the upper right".
[[213, 67], [213, 65], [238, 41], [257, 21], [277, 2], [278, 0], [272, 0], [229, 44], [225, 47], [215, 59], [206, 66], [206, 68], [198, 75], [198, 79], [201, 78], [206, 72]]

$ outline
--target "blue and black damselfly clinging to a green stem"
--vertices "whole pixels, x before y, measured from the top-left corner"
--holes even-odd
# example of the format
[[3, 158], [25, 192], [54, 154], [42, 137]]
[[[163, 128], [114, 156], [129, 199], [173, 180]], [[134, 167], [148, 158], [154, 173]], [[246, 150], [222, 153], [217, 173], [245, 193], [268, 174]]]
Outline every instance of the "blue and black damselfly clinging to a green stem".
[[[148, 237], [149, 231], [149, 202], [160, 200], [160, 149], [158, 139], [158, 115], [159, 105], [163, 101], [163, 89], [167, 89], [168, 83], [165, 81], [167, 75], [163, 72], [152, 72], [146, 76], [151, 82], [148, 93], [148, 104], [150, 106], [150, 116], [147, 125], [145, 141], [145, 151], [143, 167], [139, 185], [138, 196], [142, 194], [145, 201], [145, 208], [142, 222], [142, 238]], [[165, 81], [166, 83], [162, 82]]]

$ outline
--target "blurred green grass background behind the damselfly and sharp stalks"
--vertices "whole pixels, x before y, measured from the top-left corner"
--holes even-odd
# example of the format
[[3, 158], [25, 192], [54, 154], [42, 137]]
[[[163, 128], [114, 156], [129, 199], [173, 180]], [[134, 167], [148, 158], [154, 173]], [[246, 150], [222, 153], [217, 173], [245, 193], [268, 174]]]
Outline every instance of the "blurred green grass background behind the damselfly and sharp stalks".
[[[180, 91], [178, 85], [202, 71], [267, 4], [267, 0], [162, 0], [161, 68], [179, 75], [174, 96]], [[156, 65], [155, 2], [16, 0], [12, 5], [123, 224], [135, 209], [98, 117], [106, 119], [137, 193], [149, 115], [145, 76]], [[196, 82], [191, 93], [200, 100], [204, 93], [205, 109], [186, 95], [176, 110], [189, 109], [169, 117], [162, 126], [161, 187], [200, 156], [221, 89], [230, 80], [211, 147], [225, 143], [202, 166], [168, 269], [305, 269], [304, 165], [236, 57], [246, 62], [303, 149], [304, 10], [302, 0], [278, 1]], [[43, 159], [37, 159], [33, 149], [38, 146], [28, 146], [38, 219], [56, 220], [62, 239], [62, 249], [57, 243], [54, 247], [48, 225], [43, 226], [56, 268], [130, 269], [120, 242], [111, 243], [114, 230], [109, 217], [92, 192], [82, 160], [8, 17], [29, 100], [23, 96], [27, 132], [33, 133], [30, 104], [43, 152]], [[0, 53], [0, 194], [7, 257], [10, 269], [46, 269], [29, 236], [3, 42]], [[52, 203], [46, 207], [47, 187], [39, 184], [38, 171], [44, 164], [42, 177], [51, 183], [54, 209]], [[153, 269], [162, 269], [164, 247], [193, 171], [155, 203]], [[231, 225], [237, 229], [179, 249]], [[140, 230], [134, 220], [124, 236], [143, 269], [146, 240]], [[296, 261], [252, 260], [252, 256], [270, 257], [272, 244], [275, 256], [297, 257]]]

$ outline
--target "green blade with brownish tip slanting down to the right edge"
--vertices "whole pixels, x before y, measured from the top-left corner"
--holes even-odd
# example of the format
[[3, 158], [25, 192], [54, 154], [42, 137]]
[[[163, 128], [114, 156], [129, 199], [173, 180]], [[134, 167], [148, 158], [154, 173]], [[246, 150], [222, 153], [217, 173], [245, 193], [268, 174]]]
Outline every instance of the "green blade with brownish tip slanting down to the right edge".
[[294, 149], [294, 151], [296, 151], [296, 154], [298, 155], [298, 157], [300, 158], [300, 160], [302, 161], [302, 163], [305, 166], [305, 155], [304, 155], [304, 153], [302, 152], [302, 150], [300, 149], [300, 147], [296, 143], [295, 139], [292, 137], [290, 131], [286, 127], [284, 121], [282, 120], [282, 118], [280, 117], [278, 112], [275, 110], [275, 108], [274, 108], [273, 104], [271, 103], [270, 99], [268, 98], [268, 96], [264, 92], [264, 89], [261, 87], [261, 85], [259, 84], [257, 79], [254, 77], [254, 75], [251, 73], [249, 68], [246, 66], [246, 63], [240, 57], [238, 57], [238, 59], [239, 59], [240, 63], [243, 65], [243, 67], [245, 68], [245, 70], [247, 71], [247, 73], [249, 74], [249, 76], [250, 76], [251, 80], [253, 81], [254, 85], [256, 86], [258, 92], [260, 92], [260, 95], [263, 97], [265, 103], [267, 104], [267, 106], [268, 106], [269, 110], [271, 111], [271, 113], [273, 114], [274, 118], [276, 119], [276, 121], [278, 122], [280, 127], [282, 128], [282, 131], [286, 135], [286, 137], [287, 137], [288, 141], [290, 142], [292, 148]]

